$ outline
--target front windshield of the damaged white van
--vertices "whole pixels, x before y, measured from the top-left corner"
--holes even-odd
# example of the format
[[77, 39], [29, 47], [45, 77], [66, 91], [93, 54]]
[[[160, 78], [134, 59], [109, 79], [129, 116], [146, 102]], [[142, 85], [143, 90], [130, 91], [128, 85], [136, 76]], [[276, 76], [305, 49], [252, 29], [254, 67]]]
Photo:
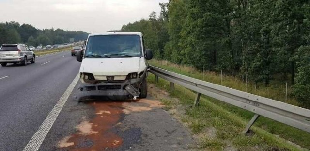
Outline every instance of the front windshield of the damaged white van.
[[85, 57], [140, 57], [139, 35], [99, 35], [88, 39]]

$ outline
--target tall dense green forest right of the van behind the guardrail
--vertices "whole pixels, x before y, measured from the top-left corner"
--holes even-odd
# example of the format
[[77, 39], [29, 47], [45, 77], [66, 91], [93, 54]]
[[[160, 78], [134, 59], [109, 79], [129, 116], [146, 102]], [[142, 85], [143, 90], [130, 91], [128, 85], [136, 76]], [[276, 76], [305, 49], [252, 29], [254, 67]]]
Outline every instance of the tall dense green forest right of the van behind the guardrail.
[[270, 86], [287, 81], [310, 107], [310, 0], [170, 0], [124, 25], [140, 31], [157, 59]]

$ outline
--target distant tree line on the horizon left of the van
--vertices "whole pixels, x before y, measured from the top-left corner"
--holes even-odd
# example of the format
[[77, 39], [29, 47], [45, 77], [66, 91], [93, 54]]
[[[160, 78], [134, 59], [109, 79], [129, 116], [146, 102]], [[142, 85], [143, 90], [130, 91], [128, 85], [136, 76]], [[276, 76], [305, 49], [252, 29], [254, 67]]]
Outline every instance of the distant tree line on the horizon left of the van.
[[53, 28], [40, 30], [30, 24], [20, 25], [15, 21], [0, 23], [0, 44], [24, 43], [29, 46], [63, 44], [69, 42], [70, 38], [74, 38], [75, 41], [85, 40], [88, 34]]

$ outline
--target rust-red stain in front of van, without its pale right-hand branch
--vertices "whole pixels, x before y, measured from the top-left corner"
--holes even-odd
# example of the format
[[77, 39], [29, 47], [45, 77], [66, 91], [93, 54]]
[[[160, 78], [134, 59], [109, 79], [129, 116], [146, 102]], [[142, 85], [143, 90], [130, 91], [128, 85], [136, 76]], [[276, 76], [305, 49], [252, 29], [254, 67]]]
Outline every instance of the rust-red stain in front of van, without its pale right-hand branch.
[[[95, 109], [95, 117], [91, 121], [83, 121], [76, 128], [78, 133], [65, 137], [58, 147], [70, 151], [101, 151], [105, 148], [117, 148], [123, 144], [123, 139], [114, 134], [111, 129], [118, 124], [123, 113], [123, 102], [97, 101], [90, 103]], [[99, 114], [98, 114], [99, 113]], [[69, 139], [68, 139], [69, 138]], [[90, 147], [78, 148], [81, 140], [91, 140]]]

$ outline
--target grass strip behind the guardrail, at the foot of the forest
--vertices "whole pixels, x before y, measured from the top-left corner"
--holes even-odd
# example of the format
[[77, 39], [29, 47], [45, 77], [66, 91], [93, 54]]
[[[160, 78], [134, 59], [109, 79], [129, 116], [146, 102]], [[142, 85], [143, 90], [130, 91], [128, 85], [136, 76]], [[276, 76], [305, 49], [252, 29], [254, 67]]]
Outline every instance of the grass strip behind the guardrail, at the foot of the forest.
[[[241, 91], [247, 90], [246, 83], [242, 82], [237, 77], [223, 75], [221, 82], [220, 73], [206, 71], [203, 76], [202, 72], [195, 68], [191, 68], [186, 65], [177, 65], [167, 61], [162, 61], [162, 63], [160, 63], [160, 61], [155, 59], [151, 60], [150, 64], [156, 67], [161, 67], [169, 71], [173, 71], [182, 75], [190, 76], [214, 84], [220, 84]], [[249, 75], [248, 78], [251, 79], [251, 76]], [[248, 93], [285, 102], [285, 87], [286, 87], [285, 82], [281, 82], [279, 80], [271, 80], [270, 86], [268, 87], [265, 87], [263, 83], [258, 83], [255, 88], [255, 84], [249, 83]], [[287, 103], [296, 106], [299, 105], [296, 99], [292, 97], [292, 88], [290, 85], [288, 86]]]

